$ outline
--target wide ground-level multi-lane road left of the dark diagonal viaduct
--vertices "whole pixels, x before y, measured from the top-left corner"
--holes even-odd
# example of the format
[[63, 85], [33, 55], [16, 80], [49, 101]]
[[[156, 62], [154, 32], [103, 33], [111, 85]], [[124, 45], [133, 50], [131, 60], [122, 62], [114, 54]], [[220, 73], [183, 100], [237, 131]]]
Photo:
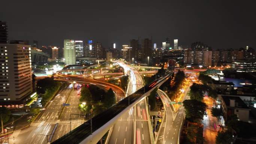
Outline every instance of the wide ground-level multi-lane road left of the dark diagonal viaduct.
[[[69, 116], [71, 113], [79, 114], [78, 108], [79, 98], [76, 90], [72, 90], [72, 85], [62, 89], [54, 100], [49, 102], [45, 111], [37, 116], [30, 127], [22, 130], [15, 140], [15, 144], [45, 144], [50, 140], [52, 131], [57, 125], [57, 129], [54, 132], [51, 141], [61, 137], [65, 133], [70, 131]], [[63, 107], [63, 103], [68, 103], [70, 106]], [[83, 120], [79, 120], [79, 117], [73, 119], [71, 128], [74, 129], [83, 123]], [[48, 140], [47, 140], [47, 136]]]

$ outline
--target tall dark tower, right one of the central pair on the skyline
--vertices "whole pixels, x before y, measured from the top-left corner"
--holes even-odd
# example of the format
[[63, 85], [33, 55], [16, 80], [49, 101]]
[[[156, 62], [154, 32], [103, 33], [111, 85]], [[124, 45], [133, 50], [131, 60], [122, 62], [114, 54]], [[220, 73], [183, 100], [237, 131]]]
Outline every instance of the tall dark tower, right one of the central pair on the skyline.
[[141, 61], [148, 63], [148, 59], [152, 59], [152, 40], [144, 39], [141, 46]]

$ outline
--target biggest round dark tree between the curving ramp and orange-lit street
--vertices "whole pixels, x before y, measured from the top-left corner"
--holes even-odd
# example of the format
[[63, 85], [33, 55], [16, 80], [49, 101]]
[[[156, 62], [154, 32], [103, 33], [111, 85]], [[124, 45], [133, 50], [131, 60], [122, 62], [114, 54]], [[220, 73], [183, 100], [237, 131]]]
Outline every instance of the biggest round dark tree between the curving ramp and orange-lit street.
[[207, 105], [204, 102], [195, 99], [186, 99], [183, 102], [183, 105], [186, 110], [186, 117], [192, 122], [202, 119], [207, 108]]

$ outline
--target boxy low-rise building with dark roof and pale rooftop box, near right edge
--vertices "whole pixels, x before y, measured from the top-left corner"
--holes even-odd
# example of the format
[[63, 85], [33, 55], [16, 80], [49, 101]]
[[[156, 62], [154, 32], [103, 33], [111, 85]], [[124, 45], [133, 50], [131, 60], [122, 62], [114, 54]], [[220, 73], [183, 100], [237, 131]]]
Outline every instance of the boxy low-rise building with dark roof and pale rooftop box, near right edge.
[[225, 120], [233, 114], [238, 116], [238, 119], [243, 122], [248, 122], [250, 108], [242, 101], [239, 96], [221, 96], [223, 116]]

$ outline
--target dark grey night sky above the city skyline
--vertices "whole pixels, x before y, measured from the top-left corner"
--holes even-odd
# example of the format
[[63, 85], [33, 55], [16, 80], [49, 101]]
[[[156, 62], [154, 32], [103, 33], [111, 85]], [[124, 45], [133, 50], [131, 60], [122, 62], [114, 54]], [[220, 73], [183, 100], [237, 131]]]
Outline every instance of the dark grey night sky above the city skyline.
[[[138, 36], [158, 43], [179, 39], [188, 47], [201, 41], [214, 49], [256, 48], [253, 0], [2, 0], [0, 21], [9, 40], [38, 40], [63, 47], [64, 39], [115, 42]], [[173, 45], [173, 41], [171, 43]]]

